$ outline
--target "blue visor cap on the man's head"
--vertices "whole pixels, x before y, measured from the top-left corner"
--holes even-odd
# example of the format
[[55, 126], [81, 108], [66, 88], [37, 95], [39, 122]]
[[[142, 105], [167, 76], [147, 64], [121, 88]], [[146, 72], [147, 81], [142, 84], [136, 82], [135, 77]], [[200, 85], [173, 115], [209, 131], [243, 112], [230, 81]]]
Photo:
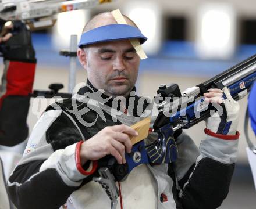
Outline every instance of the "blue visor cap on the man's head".
[[81, 48], [82, 46], [99, 42], [120, 41], [134, 38], [140, 39], [140, 44], [147, 41], [147, 37], [145, 37], [137, 27], [128, 24], [109, 24], [83, 33], [78, 46]]

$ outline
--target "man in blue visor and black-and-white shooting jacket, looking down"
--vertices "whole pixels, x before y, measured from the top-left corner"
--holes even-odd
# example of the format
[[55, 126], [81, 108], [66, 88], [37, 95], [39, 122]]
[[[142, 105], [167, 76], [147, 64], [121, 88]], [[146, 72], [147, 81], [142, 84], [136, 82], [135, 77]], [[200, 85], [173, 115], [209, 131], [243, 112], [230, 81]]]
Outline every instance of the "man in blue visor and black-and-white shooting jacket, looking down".
[[[8, 182], [18, 208], [59, 208], [65, 203], [67, 208], [110, 208], [108, 196], [92, 181], [98, 176], [97, 164], [109, 155], [119, 164], [126, 163], [125, 152], [130, 153], [132, 147], [129, 136], [137, 136], [130, 125], [144, 118], [137, 111], [141, 100], [134, 95], [140, 60], [129, 40], [142, 44], [147, 38], [133, 21], [125, 19], [129, 26], [117, 24], [106, 12], [84, 27], [77, 55], [87, 70], [87, 86], [73, 100], [48, 107], [35, 125]], [[225, 95], [229, 99], [223, 102]], [[183, 131], [175, 132], [179, 159], [134, 168], [117, 182], [118, 208], [220, 206], [237, 156], [239, 106], [227, 91], [210, 89], [205, 96], [209, 102], [223, 103], [225, 114], [207, 120], [207, 138], [200, 150]], [[143, 112], [150, 105], [143, 102]], [[145, 142], [150, 138], [154, 132]]]

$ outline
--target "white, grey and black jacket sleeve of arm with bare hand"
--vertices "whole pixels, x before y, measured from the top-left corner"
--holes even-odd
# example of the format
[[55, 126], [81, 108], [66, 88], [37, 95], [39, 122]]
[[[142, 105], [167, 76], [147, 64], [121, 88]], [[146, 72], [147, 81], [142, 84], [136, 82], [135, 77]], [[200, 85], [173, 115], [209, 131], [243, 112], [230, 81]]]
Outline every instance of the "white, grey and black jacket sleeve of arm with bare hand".
[[51, 209], [66, 203], [87, 178], [77, 170], [74, 156], [81, 139], [80, 129], [62, 110], [49, 110], [41, 116], [8, 181], [17, 208]]

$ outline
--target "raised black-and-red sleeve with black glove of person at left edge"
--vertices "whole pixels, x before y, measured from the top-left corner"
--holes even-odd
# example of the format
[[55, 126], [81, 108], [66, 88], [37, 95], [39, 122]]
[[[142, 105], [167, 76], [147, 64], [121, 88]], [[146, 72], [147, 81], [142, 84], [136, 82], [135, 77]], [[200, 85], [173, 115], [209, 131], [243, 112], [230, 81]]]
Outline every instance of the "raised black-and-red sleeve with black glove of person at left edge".
[[[5, 21], [0, 20], [0, 28]], [[1, 42], [5, 68], [0, 85], [0, 145], [15, 146], [28, 136], [27, 113], [32, 92], [35, 52], [26, 24], [13, 21], [12, 37]]]

